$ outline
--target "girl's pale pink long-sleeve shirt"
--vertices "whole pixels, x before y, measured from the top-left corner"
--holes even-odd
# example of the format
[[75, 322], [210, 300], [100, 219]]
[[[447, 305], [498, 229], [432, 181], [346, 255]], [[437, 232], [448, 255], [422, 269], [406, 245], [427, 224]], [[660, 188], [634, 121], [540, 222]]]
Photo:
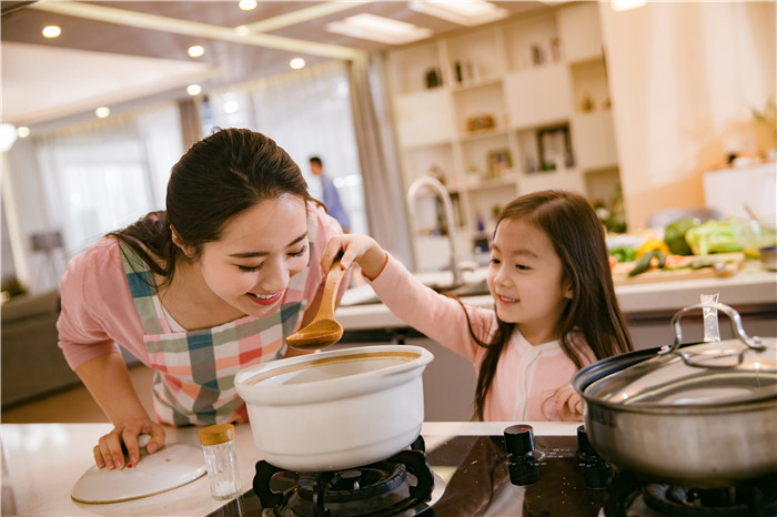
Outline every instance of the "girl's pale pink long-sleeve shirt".
[[[398, 261], [389, 256], [383, 272], [370, 284], [398, 317], [443, 346], [470, 359], [475, 368], [486, 349], [471, 335], [461, 304], [423, 285]], [[493, 310], [467, 306], [477, 337], [490, 342], [497, 322]], [[584, 364], [595, 356], [582, 338], [577, 343]], [[484, 407], [488, 422], [544, 422], [561, 419], [555, 392], [577, 372], [558, 341], [532, 345], [516, 331], [500, 357]]]

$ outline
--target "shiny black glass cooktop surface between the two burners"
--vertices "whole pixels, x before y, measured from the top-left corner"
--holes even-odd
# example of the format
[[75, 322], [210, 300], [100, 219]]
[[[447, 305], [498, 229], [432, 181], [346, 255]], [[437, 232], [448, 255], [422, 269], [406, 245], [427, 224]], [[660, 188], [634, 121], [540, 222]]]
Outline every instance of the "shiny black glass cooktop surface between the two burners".
[[[578, 466], [577, 438], [542, 436], [534, 442], [534, 452], [527, 456], [528, 465], [522, 466], [511, 462], [514, 457], [506, 450], [504, 436], [452, 437], [425, 453], [436, 483], [444, 485], [442, 496], [436, 496], [433, 505], [420, 513], [374, 515], [598, 515], [603, 494], [601, 489], [586, 487]], [[532, 472], [538, 473], [538, 480], [531, 479]], [[513, 485], [511, 477], [518, 483], [534, 483], [525, 487]], [[263, 508], [253, 489], [210, 514], [211, 517], [273, 515], [286, 514]]]

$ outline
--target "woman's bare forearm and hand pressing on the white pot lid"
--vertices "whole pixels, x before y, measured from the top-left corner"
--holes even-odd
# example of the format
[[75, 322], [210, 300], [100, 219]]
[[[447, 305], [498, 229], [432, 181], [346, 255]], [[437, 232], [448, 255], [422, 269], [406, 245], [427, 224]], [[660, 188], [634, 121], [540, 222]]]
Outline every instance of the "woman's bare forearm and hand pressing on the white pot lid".
[[[75, 368], [75, 374], [113, 424], [113, 430], [101, 437], [94, 447], [98, 468], [133, 467], [140, 459], [139, 435], [151, 436], [147, 446], [149, 454], [164, 445], [164, 428], [145, 413], [121, 354], [111, 353], [89, 359]], [[124, 465], [122, 443], [127, 447], [128, 465]]]

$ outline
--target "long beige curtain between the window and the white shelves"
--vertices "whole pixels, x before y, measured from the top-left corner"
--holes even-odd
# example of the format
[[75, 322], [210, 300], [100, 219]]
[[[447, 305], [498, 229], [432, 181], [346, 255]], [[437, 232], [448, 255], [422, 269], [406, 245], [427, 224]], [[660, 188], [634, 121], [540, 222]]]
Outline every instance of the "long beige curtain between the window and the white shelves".
[[414, 271], [389, 110], [380, 87], [374, 87], [379, 94], [373, 97], [366, 54], [350, 62], [349, 82], [370, 234]]

